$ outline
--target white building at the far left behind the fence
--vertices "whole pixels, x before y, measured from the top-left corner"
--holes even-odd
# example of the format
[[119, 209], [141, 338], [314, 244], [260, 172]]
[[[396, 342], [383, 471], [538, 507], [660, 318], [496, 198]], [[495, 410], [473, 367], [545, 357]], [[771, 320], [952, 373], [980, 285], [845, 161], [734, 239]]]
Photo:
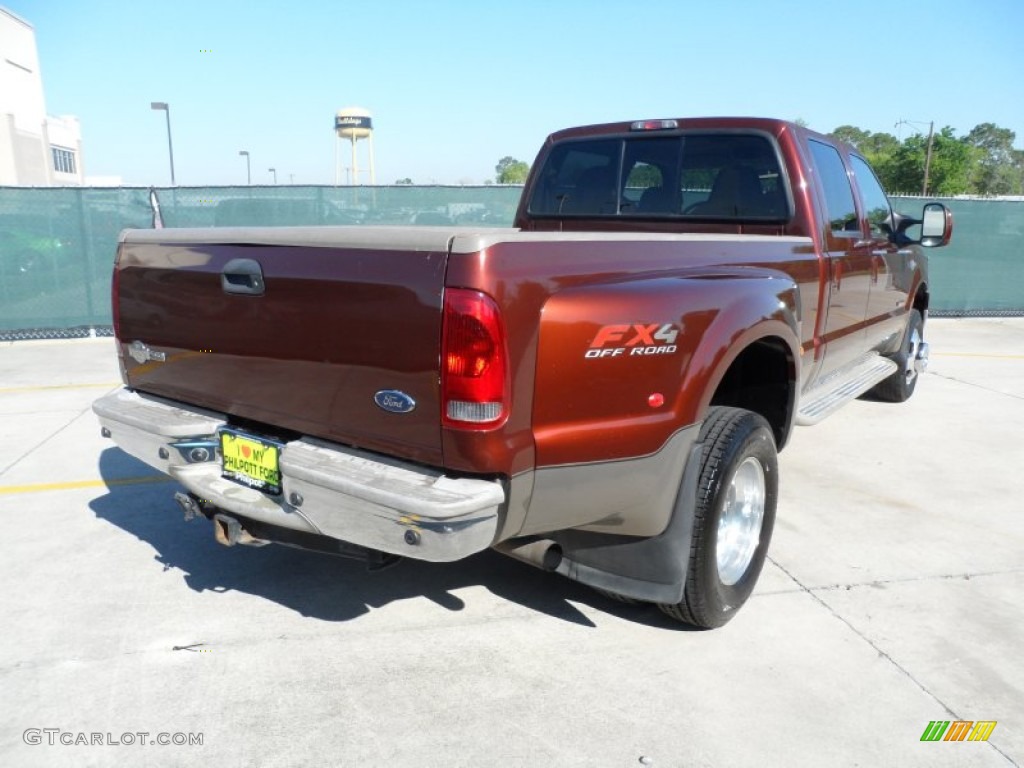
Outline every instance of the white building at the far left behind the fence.
[[32, 25], [0, 7], [0, 185], [83, 183], [78, 118], [47, 117]]

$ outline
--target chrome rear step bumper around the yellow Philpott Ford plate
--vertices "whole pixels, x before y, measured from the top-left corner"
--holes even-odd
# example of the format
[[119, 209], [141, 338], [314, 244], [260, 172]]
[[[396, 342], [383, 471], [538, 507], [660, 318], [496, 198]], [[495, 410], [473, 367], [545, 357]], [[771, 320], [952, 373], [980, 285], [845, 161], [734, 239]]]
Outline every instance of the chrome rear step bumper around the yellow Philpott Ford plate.
[[310, 437], [285, 443], [282, 494], [221, 476], [219, 457], [189, 461], [182, 440], [215, 441], [220, 414], [118, 390], [96, 400], [103, 429], [127, 453], [237, 515], [420, 560], [459, 560], [487, 549], [505, 490], [497, 480], [454, 478]]

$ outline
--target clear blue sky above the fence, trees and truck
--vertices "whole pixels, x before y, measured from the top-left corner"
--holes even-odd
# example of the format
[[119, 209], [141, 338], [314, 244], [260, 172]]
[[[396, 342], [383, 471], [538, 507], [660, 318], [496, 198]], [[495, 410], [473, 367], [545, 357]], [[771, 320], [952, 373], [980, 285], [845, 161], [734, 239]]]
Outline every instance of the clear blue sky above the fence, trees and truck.
[[[1024, 144], [1021, 0], [0, 0], [36, 29], [47, 111], [85, 172], [334, 180], [333, 115], [374, 116], [378, 183], [481, 183], [585, 123], [802, 118], [905, 136], [982, 122]], [[209, 51], [209, 52], [203, 52]], [[347, 156], [346, 156], [347, 157]], [[365, 161], [360, 161], [365, 167]]]

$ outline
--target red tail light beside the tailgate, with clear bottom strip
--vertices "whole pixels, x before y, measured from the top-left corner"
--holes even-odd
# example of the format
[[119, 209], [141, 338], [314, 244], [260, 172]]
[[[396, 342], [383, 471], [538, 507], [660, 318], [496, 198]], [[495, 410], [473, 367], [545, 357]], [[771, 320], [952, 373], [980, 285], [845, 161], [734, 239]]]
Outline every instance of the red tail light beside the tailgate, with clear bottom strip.
[[441, 422], [496, 427], [508, 416], [505, 329], [495, 300], [479, 291], [444, 291]]

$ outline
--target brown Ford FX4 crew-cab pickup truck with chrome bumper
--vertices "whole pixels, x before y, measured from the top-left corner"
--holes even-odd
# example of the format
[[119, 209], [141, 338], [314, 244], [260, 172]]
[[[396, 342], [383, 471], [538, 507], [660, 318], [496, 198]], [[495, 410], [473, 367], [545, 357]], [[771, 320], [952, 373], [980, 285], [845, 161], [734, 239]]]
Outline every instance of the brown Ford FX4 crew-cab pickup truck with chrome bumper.
[[793, 425], [912, 394], [951, 228], [792, 123], [575, 128], [514, 228], [124, 232], [94, 410], [223, 544], [495, 548], [717, 627]]

